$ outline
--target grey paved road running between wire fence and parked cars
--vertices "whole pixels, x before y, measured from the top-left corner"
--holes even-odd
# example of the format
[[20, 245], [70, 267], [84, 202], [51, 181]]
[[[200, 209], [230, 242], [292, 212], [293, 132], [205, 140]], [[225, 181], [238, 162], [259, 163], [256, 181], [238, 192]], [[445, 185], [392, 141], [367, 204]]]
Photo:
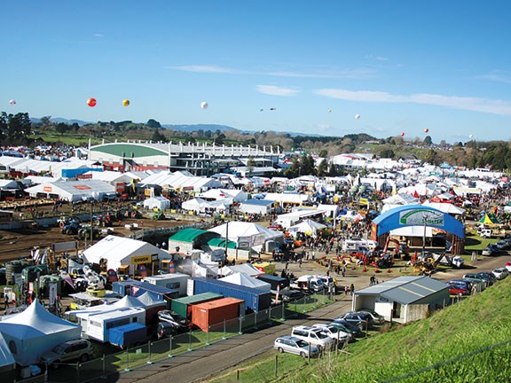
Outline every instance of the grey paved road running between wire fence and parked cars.
[[[468, 265], [474, 269], [494, 270], [503, 267], [506, 262], [511, 262], [511, 255], [501, 255], [495, 258], [485, 258], [476, 261], [474, 265]], [[297, 267], [297, 266], [294, 266]], [[303, 271], [307, 270], [306, 266]], [[462, 277], [463, 274], [471, 270], [450, 270], [449, 272], [437, 273], [436, 279], [448, 281], [453, 278]], [[350, 280], [350, 276], [346, 278]], [[353, 277], [355, 280], [355, 277]], [[357, 277], [358, 288], [368, 285], [367, 277]], [[229, 340], [220, 341], [216, 344], [197, 351], [192, 351], [184, 356], [176, 356], [158, 363], [144, 366], [138, 370], [122, 373], [120, 376], [111, 377], [102, 380], [106, 382], [161, 382], [178, 381], [180, 383], [196, 382], [207, 380], [209, 377], [216, 376], [222, 371], [232, 369], [232, 367], [247, 361], [254, 356], [272, 348], [273, 340], [280, 335], [289, 334], [291, 327], [297, 324], [312, 324], [318, 321], [327, 321], [334, 317], [341, 316], [351, 308], [350, 297], [342, 301], [317, 309], [307, 315], [307, 317], [287, 319], [285, 323], [260, 330], [254, 333], [246, 333]]]

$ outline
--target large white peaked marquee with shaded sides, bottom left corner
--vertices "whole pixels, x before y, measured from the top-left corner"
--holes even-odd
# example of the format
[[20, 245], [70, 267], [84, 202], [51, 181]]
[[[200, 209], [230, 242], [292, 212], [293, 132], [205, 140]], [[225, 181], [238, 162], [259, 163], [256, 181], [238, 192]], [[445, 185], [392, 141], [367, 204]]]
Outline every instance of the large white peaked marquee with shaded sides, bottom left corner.
[[39, 362], [51, 348], [67, 340], [80, 338], [79, 324], [54, 316], [35, 300], [25, 311], [0, 322], [12, 356], [20, 366]]

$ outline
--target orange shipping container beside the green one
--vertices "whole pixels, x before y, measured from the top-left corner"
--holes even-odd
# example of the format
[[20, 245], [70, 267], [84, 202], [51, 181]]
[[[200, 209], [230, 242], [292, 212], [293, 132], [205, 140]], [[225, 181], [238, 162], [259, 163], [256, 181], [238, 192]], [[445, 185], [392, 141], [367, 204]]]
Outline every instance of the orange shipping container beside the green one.
[[240, 305], [244, 302], [236, 298], [223, 298], [193, 305], [192, 323], [207, 332], [209, 325], [221, 324], [224, 320], [239, 317]]

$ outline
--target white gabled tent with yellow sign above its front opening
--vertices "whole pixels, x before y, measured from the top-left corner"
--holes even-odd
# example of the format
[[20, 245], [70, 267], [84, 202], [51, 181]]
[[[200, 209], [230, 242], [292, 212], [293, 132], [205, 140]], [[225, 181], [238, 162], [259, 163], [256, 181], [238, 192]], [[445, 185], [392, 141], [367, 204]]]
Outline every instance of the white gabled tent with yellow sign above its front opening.
[[99, 263], [101, 259], [106, 259], [106, 267], [114, 270], [121, 265], [130, 265], [130, 274], [134, 273], [138, 264], [151, 263], [146, 261], [146, 257], [153, 255], [159, 260], [170, 258], [167, 251], [147, 242], [113, 235], [106, 236], [83, 251], [86, 262]]

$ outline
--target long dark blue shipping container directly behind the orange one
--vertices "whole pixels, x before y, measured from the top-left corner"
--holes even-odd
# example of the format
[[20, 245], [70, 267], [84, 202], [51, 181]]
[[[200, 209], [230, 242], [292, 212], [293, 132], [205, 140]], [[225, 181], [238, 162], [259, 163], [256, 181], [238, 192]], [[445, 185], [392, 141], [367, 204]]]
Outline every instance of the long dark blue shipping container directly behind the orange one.
[[271, 305], [271, 293], [252, 287], [234, 285], [218, 279], [192, 278], [193, 293], [219, 293], [224, 297], [245, 301], [245, 306], [253, 311], [268, 309]]

